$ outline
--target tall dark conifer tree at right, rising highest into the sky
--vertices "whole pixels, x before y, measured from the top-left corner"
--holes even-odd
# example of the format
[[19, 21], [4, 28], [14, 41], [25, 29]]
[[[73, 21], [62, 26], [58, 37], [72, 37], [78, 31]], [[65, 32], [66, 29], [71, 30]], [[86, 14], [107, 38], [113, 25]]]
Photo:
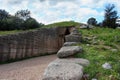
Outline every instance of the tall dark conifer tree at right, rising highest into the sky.
[[103, 20], [103, 26], [109, 27], [109, 28], [116, 28], [116, 19], [117, 11], [115, 10], [114, 4], [107, 4], [105, 7], [105, 14], [104, 14], [104, 20]]

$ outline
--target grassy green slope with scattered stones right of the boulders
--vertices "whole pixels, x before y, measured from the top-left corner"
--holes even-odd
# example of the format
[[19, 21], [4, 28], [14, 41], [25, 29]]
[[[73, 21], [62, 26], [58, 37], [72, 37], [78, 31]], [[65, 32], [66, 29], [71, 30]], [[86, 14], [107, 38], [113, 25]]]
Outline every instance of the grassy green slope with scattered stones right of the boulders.
[[[79, 58], [85, 58], [90, 61], [90, 65], [85, 67], [85, 73], [89, 74], [89, 80], [97, 78], [98, 80], [120, 80], [120, 30], [108, 28], [94, 28], [91, 30], [81, 30], [83, 37], [83, 54], [76, 55]], [[94, 36], [96, 38], [94, 38]], [[117, 38], [116, 38], [117, 37]], [[97, 44], [93, 44], [96, 41]], [[87, 44], [90, 44], [87, 46]], [[111, 49], [117, 49], [112, 52]], [[102, 68], [102, 64], [108, 62], [112, 69]], [[110, 79], [112, 76], [113, 79]]]

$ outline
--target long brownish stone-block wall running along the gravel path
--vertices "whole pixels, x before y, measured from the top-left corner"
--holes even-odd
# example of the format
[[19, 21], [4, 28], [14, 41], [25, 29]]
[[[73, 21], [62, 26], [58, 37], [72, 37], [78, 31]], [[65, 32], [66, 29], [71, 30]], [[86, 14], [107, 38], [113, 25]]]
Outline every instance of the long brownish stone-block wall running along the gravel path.
[[72, 27], [42, 28], [0, 36], [0, 62], [56, 53], [71, 30]]

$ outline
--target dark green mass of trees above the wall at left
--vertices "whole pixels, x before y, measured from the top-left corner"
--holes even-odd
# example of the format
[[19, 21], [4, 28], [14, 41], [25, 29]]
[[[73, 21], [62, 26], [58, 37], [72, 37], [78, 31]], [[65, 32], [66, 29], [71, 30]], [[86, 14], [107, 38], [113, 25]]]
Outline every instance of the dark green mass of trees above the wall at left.
[[42, 23], [39, 24], [35, 19], [30, 17], [30, 11], [28, 10], [17, 11], [15, 16], [7, 15], [7, 12], [0, 10], [0, 31], [27, 30], [43, 26]]

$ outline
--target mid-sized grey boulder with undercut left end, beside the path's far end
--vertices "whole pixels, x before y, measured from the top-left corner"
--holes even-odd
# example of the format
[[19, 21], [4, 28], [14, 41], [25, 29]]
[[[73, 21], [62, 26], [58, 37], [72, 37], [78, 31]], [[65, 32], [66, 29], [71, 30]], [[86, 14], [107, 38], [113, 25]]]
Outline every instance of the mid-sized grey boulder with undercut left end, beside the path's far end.
[[64, 46], [58, 51], [57, 56], [59, 58], [66, 58], [81, 52], [82, 48], [80, 46]]

